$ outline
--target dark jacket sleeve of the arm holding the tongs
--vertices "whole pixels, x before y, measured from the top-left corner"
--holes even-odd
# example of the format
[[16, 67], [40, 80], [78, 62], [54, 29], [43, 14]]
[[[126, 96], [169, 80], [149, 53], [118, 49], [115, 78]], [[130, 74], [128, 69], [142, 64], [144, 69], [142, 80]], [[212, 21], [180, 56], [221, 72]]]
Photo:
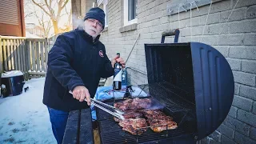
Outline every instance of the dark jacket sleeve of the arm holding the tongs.
[[84, 86], [82, 79], [70, 66], [72, 58], [74, 51], [70, 42], [65, 36], [59, 35], [49, 52], [47, 64], [54, 78], [68, 90], [74, 90], [75, 86]]

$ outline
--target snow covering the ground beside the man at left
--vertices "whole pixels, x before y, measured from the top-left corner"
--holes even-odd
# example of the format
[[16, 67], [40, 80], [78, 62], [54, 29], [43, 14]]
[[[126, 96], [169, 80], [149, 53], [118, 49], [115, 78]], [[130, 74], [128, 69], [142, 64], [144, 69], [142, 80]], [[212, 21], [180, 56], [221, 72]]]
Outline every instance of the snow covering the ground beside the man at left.
[[42, 104], [44, 82], [33, 78], [26, 82], [26, 93], [0, 98], [0, 143], [57, 143]]

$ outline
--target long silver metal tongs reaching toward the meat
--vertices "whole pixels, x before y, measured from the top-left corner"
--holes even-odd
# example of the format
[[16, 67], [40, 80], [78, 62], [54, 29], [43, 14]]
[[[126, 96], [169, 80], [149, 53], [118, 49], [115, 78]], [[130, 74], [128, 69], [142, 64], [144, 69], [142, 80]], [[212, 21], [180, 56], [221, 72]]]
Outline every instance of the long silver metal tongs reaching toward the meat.
[[[73, 94], [72, 91], [70, 91], [70, 94]], [[85, 101], [86, 101], [86, 99], [85, 99]], [[104, 102], [99, 102], [99, 101], [97, 101], [97, 100], [95, 100], [95, 99], [93, 99], [93, 98], [90, 98], [90, 101], [91, 101], [91, 104], [92, 104], [92, 105], [97, 106], [99, 109], [104, 110], [104, 111], [106, 111], [107, 113], [112, 114], [112, 115], [114, 115], [115, 117], [120, 118], [120, 119], [122, 119], [122, 120], [125, 119], [125, 118], [122, 116], [122, 114], [124, 114], [124, 112], [123, 112], [122, 110], [119, 110], [118, 108], [116, 108], [116, 107], [114, 107], [114, 106], [110, 106], [110, 105], [108, 105], [108, 104], [106, 104], [106, 103], [104, 103]], [[86, 102], [87, 102], [87, 101], [86, 101]], [[100, 105], [102, 105], [102, 106], [100, 106]], [[111, 110], [107, 110], [107, 109], [106, 109], [105, 107], [103, 107], [103, 106], [106, 106], [106, 107], [110, 108]], [[112, 111], [112, 110], [113, 110], [113, 111]]]

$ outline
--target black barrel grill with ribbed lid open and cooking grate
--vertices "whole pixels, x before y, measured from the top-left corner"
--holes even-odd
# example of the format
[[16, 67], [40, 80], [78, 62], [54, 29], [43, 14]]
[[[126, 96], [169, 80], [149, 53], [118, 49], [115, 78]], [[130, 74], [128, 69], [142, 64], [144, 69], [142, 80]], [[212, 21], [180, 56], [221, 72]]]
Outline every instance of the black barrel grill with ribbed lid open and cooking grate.
[[[148, 84], [140, 87], [178, 128], [161, 133], [148, 128], [132, 135], [113, 116], [96, 109], [102, 144], [195, 143], [214, 132], [234, 98], [234, 77], [222, 54], [200, 42], [145, 44], [145, 52]], [[106, 103], [114, 101], [120, 100]]]

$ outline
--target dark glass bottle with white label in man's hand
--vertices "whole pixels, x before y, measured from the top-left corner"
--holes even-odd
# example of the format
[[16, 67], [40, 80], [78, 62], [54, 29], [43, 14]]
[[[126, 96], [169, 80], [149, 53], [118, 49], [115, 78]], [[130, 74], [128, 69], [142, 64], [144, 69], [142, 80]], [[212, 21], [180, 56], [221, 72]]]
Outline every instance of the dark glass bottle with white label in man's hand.
[[[120, 53], [117, 54], [118, 58]], [[121, 90], [122, 87], [122, 65], [120, 62], [114, 64], [113, 90]]]

